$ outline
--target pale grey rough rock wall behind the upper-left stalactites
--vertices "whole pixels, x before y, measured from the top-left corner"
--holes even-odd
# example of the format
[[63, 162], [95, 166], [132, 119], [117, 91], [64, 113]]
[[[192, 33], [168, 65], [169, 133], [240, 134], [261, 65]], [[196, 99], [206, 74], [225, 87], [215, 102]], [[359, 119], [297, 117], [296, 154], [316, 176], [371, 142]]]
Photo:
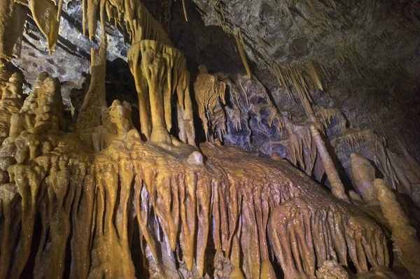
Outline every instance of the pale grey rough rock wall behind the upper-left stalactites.
[[[26, 8], [26, 7], [24, 7]], [[19, 59], [12, 59], [25, 78], [25, 92], [41, 71], [57, 76], [62, 83], [64, 104], [73, 110], [71, 90], [80, 89], [89, 71], [90, 49], [97, 48], [102, 31], [99, 29], [93, 42], [81, 33], [82, 9], [80, 3], [65, 1], [59, 25], [59, 36], [55, 52], [48, 52], [45, 36], [36, 27], [31, 15], [22, 38]], [[127, 46], [123, 35], [112, 25], [106, 30], [109, 35], [107, 59], [127, 61]], [[76, 103], [74, 103], [76, 105]]]

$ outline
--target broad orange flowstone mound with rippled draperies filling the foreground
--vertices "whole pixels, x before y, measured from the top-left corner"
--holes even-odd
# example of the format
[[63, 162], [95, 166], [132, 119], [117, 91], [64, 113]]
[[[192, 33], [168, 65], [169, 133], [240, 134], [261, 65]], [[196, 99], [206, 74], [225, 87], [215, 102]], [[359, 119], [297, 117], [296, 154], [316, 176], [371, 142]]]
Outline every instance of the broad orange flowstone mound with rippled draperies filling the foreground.
[[[286, 162], [209, 143], [201, 153], [174, 138], [144, 142], [128, 131], [119, 103], [109, 110], [118, 129], [103, 131], [122, 136], [94, 152], [87, 148], [97, 141], [93, 135], [54, 125], [54, 80], [45, 78], [36, 95], [29, 101], [48, 117], [0, 150], [8, 173], [0, 192], [2, 278], [18, 277], [28, 258], [36, 278], [62, 276], [66, 266], [75, 278], [134, 278], [136, 220], [156, 269], [168, 278], [176, 271], [168, 257], [182, 257], [183, 268], [203, 276], [209, 241], [230, 257], [233, 271], [250, 278], [274, 276], [274, 260], [286, 278], [314, 278], [323, 262], [346, 265], [347, 255], [359, 271], [367, 270], [365, 255], [372, 266], [388, 264], [381, 228]], [[36, 119], [38, 108], [18, 115]], [[36, 242], [34, 227], [41, 233]]]

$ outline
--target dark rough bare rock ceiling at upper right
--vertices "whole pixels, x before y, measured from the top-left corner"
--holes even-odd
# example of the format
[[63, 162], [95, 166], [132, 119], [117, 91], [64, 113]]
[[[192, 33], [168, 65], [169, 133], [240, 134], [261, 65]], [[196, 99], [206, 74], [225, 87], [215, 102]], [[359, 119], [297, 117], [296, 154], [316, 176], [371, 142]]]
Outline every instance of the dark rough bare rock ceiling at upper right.
[[[195, 3], [202, 10], [205, 24], [221, 26], [228, 32], [241, 30], [248, 59], [255, 62], [251, 69], [269, 88], [281, 110], [302, 116], [302, 106], [287, 101], [286, 89], [293, 85], [292, 89], [298, 91], [296, 87], [303, 85], [299, 80], [293, 81], [293, 75], [288, 73], [303, 73], [308, 83], [311, 75], [307, 62], [313, 61], [331, 96], [311, 92], [317, 106], [342, 110], [351, 127], [373, 127], [388, 137], [393, 148], [398, 149], [396, 135], [402, 132], [411, 152], [419, 158], [415, 144], [419, 131], [412, 129], [419, 127], [415, 101], [419, 91], [419, 3]], [[279, 87], [274, 65], [281, 67], [288, 86]]]

